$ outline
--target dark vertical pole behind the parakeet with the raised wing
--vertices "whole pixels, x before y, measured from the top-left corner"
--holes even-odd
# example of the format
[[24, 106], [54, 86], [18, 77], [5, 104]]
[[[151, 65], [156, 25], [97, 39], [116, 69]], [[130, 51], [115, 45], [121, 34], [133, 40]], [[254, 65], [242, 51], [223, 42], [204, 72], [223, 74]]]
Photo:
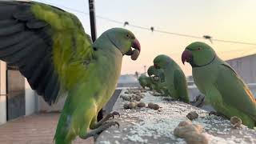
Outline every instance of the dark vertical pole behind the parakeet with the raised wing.
[[[89, 10], [90, 10], [90, 34], [91, 34], [91, 39], [94, 42], [97, 38], [94, 0], [88, 0], [88, 2], [89, 2]], [[103, 110], [99, 110], [97, 121], [100, 121], [102, 118], [103, 118]]]

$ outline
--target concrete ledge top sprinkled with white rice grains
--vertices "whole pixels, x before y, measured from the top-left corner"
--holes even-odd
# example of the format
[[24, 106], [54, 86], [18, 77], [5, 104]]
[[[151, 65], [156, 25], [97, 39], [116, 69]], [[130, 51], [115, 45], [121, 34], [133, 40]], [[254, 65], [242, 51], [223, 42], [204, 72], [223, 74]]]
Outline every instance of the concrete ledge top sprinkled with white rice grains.
[[[125, 91], [122, 90], [122, 95]], [[246, 126], [234, 129], [229, 120], [215, 115], [209, 116], [209, 112], [205, 110], [183, 102], [166, 101], [164, 97], [155, 97], [150, 92], [144, 94], [142, 102], [157, 103], [160, 109], [151, 110], [145, 107], [124, 110], [123, 104], [126, 101], [118, 98], [113, 110], [121, 114], [120, 118], [114, 118], [114, 121], [119, 122], [120, 128], [113, 126], [102, 132], [96, 143], [186, 143], [184, 139], [174, 136], [174, 128], [179, 122], [187, 120], [186, 114], [191, 111], [196, 111], [199, 115], [192, 122], [204, 127], [203, 134], [209, 139], [209, 143], [256, 143], [256, 130], [250, 130]]]

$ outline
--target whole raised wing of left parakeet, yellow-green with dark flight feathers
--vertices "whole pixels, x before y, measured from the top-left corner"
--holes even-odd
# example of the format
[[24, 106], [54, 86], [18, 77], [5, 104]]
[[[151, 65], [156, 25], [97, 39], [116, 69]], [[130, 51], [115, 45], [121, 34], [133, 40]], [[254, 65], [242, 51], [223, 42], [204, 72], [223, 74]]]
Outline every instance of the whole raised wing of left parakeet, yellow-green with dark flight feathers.
[[73, 14], [38, 2], [0, 2], [0, 59], [18, 66], [49, 104], [86, 74], [91, 44]]

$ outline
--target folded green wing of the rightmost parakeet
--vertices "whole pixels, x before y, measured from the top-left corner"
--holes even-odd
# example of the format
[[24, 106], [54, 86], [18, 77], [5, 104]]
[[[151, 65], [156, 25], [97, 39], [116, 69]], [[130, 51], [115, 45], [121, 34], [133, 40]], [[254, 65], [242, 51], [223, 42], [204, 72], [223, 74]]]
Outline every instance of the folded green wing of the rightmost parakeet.
[[222, 64], [218, 69], [216, 86], [224, 102], [250, 114], [256, 120], [256, 101], [248, 86], [228, 64]]

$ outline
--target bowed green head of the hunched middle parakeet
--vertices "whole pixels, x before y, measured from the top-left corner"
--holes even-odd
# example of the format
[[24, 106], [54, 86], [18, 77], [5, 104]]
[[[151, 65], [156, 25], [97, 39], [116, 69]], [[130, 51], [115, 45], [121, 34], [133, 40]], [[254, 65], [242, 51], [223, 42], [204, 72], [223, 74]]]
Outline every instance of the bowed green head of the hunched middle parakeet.
[[161, 54], [154, 58], [154, 67], [156, 69], [165, 69], [170, 62], [173, 62], [173, 60], [169, 56]]

